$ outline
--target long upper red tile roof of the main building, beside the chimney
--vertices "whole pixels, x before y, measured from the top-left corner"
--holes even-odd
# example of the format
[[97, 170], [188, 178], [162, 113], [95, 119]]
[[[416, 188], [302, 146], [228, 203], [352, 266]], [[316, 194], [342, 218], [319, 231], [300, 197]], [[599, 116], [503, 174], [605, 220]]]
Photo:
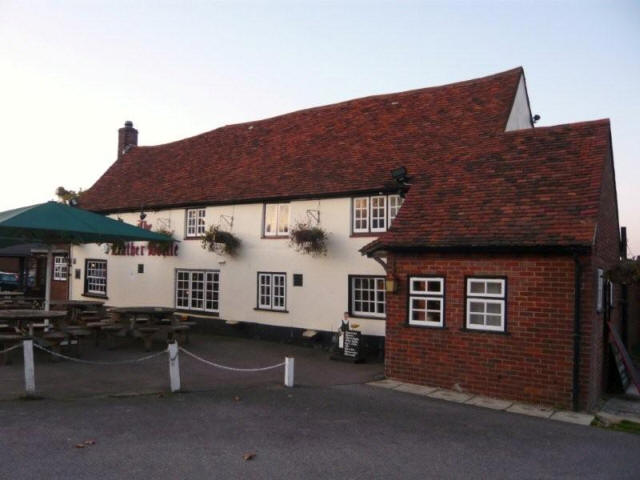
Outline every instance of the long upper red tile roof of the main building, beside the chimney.
[[115, 212], [385, 189], [392, 168], [424, 171], [425, 159], [451, 145], [503, 132], [522, 74], [516, 68], [135, 147], [81, 205]]

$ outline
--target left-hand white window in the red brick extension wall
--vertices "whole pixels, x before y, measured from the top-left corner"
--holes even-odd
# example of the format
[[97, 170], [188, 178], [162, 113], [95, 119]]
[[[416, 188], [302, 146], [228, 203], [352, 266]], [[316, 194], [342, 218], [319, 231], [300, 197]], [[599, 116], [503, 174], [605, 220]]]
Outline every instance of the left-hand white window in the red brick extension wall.
[[409, 277], [409, 325], [444, 326], [444, 278]]

